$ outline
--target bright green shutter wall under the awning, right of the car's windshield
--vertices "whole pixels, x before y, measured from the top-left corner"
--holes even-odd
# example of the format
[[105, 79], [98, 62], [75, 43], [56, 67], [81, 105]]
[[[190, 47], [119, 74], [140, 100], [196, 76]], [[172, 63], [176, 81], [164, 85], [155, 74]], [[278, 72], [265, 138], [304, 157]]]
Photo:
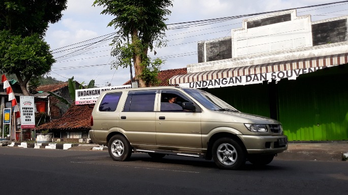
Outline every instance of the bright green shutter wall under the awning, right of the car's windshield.
[[289, 140], [348, 139], [348, 66], [277, 84], [279, 121]]

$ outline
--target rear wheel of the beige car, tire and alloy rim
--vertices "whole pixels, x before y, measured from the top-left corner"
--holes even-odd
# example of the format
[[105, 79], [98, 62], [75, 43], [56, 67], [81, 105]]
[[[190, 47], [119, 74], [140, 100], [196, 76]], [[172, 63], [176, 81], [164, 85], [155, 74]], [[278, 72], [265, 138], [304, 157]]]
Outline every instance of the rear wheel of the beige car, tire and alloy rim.
[[112, 136], [108, 146], [110, 157], [114, 161], [125, 161], [131, 157], [131, 144], [122, 135]]

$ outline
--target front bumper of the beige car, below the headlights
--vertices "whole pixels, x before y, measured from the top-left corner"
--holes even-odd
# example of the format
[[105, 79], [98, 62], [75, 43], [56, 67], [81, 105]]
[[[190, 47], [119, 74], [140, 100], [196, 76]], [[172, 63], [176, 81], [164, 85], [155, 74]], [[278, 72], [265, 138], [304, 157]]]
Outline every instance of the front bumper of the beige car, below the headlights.
[[288, 149], [286, 135], [238, 135], [248, 154], [277, 154]]

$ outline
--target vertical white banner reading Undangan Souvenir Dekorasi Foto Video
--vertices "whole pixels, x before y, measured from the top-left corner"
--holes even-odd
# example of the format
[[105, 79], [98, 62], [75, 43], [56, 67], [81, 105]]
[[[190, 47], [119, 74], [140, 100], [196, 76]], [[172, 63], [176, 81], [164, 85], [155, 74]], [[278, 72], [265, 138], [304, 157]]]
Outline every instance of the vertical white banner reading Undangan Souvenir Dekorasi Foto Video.
[[35, 128], [34, 96], [20, 96], [21, 129]]

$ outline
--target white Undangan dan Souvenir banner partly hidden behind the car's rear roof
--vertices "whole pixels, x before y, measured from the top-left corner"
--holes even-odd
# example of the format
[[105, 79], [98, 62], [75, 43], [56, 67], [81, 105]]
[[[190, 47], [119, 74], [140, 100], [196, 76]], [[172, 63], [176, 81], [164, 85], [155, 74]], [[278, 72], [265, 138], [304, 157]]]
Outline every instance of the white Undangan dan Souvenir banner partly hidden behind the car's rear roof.
[[132, 88], [132, 85], [79, 89], [75, 91], [75, 104], [95, 104], [103, 91]]

